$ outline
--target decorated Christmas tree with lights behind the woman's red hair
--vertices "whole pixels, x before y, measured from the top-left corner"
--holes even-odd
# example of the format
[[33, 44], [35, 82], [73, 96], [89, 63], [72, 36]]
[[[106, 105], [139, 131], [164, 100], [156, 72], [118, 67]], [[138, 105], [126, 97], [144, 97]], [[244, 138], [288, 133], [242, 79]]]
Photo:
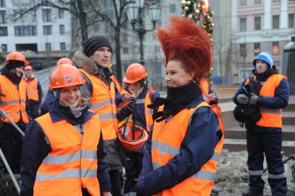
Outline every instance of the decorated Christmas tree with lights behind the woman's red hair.
[[[211, 37], [211, 43], [213, 41], [212, 35], [213, 35], [213, 27], [214, 24], [211, 21], [214, 12], [210, 10], [208, 0], [191, 0], [181, 1], [182, 6], [182, 17], [187, 17], [189, 19], [193, 19], [196, 24], [204, 28], [208, 35]], [[208, 73], [207, 77], [210, 82], [212, 82], [211, 79], [211, 73], [213, 71], [213, 68], [211, 67], [210, 73]]]

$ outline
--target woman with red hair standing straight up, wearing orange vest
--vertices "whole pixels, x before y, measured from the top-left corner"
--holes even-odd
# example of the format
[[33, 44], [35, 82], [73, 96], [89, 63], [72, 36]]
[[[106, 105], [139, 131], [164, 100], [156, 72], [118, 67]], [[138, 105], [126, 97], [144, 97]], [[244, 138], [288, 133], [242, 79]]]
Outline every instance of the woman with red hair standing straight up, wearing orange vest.
[[171, 17], [157, 35], [166, 57], [167, 97], [149, 107], [154, 127], [145, 143], [138, 195], [210, 195], [220, 141], [217, 116], [199, 81], [210, 71], [211, 41], [193, 20]]

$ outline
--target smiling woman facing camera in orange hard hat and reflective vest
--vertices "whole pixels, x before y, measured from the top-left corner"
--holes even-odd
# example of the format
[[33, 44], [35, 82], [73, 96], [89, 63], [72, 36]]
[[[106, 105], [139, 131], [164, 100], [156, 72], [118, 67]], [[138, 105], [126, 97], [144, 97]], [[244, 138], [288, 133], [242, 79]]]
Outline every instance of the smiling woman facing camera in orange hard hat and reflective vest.
[[21, 195], [111, 196], [100, 119], [81, 98], [84, 82], [70, 64], [51, 74], [56, 102], [27, 127]]

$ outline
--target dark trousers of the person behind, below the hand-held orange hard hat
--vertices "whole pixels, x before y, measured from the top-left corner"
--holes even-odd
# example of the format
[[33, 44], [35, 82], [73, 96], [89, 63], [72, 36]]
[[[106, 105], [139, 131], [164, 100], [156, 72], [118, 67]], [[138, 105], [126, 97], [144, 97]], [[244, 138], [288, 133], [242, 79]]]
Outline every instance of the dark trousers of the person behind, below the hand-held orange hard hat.
[[143, 168], [143, 153], [140, 152], [127, 152], [128, 157], [126, 166], [126, 181], [124, 187], [124, 193], [135, 192], [134, 186], [137, 183], [135, 179], [138, 179], [138, 175]]

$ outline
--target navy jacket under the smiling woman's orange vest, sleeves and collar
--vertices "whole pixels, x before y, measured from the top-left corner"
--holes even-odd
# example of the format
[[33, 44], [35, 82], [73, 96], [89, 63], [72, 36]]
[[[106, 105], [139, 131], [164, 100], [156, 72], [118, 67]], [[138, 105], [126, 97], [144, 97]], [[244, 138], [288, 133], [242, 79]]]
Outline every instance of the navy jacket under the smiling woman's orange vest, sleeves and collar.
[[[66, 121], [71, 125], [84, 125], [95, 113], [84, 110], [80, 120], [75, 118], [69, 107], [62, 107], [58, 103], [49, 110], [51, 121]], [[100, 130], [98, 130], [100, 132]], [[100, 141], [97, 146], [98, 159], [98, 181], [100, 192], [109, 191], [111, 188], [107, 166], [104, 162], [105, 152], [103, 139], [100, 132]], [[33, 195], [36, 172], [44, 158], [51, 152], [51, 145], [48, 143], [42, 128], [36, 121], [32, 121], [27, 129], [21, 157], [21, 195]]]

